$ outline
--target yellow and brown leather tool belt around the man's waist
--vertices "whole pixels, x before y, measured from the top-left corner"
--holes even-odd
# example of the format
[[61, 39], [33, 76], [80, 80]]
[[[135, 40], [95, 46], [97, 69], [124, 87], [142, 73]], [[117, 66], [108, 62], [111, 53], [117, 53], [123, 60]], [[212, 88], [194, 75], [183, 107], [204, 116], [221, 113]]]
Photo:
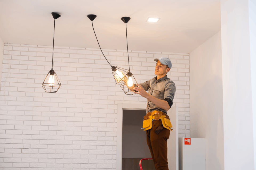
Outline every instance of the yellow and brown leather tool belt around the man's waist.
[[[142, 128], [144, 129], [144, 131], [152, 128], [152, 119], [155, 119], [155, 120], [161, 119], [163, 128], [166, 128], [172, 131], [171, 128], [173, 126], [171, 125], [170, 118], [167, 114], [165, 114], [165, 112], [162, 112], [162, 111], [148, 112], [146, 116], [144, 116], [143, 128]], [[158, 134], [163, 129], [161, 128], [161, 126], [159, 126], [159, 128], [155, 131], [155, 133]]]

